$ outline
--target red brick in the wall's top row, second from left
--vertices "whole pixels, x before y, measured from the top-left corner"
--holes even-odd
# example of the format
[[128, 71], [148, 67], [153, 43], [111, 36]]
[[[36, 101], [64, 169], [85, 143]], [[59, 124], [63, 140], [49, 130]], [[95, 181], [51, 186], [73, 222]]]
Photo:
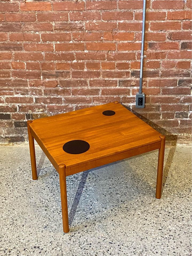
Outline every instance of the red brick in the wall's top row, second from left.
[[21, 11], [51, 11], [51, 3], [49, 2], [26, 2], [21, 3], [20, 5]]

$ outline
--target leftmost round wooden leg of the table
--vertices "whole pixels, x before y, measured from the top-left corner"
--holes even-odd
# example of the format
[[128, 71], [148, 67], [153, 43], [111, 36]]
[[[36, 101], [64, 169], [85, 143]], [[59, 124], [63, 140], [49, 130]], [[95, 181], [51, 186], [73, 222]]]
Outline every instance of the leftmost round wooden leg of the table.
[[35, 146], [34, 146], [34, 138], [30, 132], [29, 124], [32, 123], [32, 120], [27, 121], [27, 130], [28, 130], [28, 137], [29, 137], [29, 150], [30, 150], [30, 158], [31, 158], [31, 171], [32, 171], [32, 178], [34, 180], [37, 179], [37, 166], [36, 166], [36, 159], [35, 159]]

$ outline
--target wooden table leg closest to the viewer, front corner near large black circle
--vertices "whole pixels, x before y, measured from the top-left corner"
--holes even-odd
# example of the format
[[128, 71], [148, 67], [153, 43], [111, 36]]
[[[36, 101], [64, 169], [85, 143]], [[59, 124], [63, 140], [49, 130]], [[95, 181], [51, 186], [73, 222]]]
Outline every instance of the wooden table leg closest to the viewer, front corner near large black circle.
[[67, 187], [66, 187], [66, 175], [65, 165], [61, 163], [59, 165], [59, 182], [61, 190], [61, 210], [63, 219], [63, 232], [69, 232], [69, 221], [68, 221], [68, 208], [67, 208]]

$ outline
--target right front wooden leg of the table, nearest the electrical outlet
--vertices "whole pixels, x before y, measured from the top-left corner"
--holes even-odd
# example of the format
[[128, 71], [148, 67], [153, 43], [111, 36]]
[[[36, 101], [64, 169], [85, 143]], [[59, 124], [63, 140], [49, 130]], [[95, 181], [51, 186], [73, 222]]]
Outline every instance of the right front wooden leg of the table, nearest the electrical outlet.
[[157, 184], [156, 184], [156, 198], [161, 198], [161, 187], [162, 187], [162, 178], [163, 178], [163, 161], [164, 161], [164, 152], [165, 152], [165, 136], [159, 136], [161, 138], [161, 147], [159, 149], [158, 156], [158, 167], [157, 167]]

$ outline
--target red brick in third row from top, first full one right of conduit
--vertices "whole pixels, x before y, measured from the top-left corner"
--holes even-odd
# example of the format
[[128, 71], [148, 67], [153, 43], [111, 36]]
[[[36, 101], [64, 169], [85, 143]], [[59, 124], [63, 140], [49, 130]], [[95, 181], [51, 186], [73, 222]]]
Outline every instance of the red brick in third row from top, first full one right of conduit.
[[179, 30], [179, 29], [181, 29], [181, 22], [179, 21], [151, 22], [151, 25], [150, 25], [150, 30], [166, 30], [166, 31], [168, 30], [169, 31], [169, 30]]

